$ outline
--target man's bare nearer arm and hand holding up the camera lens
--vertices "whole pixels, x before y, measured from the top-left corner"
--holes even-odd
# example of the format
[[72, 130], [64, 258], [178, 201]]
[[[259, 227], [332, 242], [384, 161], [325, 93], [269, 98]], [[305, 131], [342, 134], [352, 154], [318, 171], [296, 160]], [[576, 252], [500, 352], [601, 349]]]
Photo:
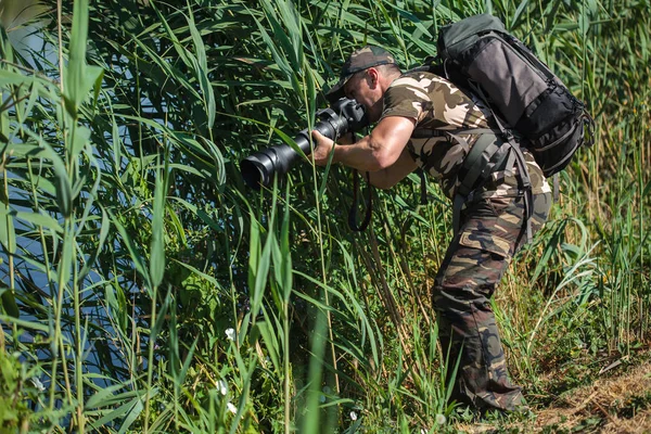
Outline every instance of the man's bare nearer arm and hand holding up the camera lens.
[[[360, 171], [381, 171], [393, 166], [403, 156], [414, 126], [414, 119], [388, 116], [380, 120], [369, 136], [349, 145], [335, 144], [331, 139], [315, 130], [312, 138], [316, 140], [317, 146], [312, 157], [317, 165], [324, 166], [334, 148], [333, 163], [341, 163]], [[404, 166], [405, 163], [406, 158], [403, 158], [400, 166]]]

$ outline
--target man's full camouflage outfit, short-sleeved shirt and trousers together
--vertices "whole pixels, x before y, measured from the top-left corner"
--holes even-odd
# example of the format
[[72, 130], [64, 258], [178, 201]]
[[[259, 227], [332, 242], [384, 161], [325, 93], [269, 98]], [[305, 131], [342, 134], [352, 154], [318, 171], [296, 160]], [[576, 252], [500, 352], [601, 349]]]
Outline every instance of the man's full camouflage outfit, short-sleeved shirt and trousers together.
[[[441, 180], [454, 197], [459, 168], [476, 133], [490, 128], [485, 108], [448, 80], [426, 72], [403, 74], [384, 94], [382, 117], [416, 120], [407, 144], [419, 166]], [[443, 131], [443, 133], [442, 133]], [[445, 133], [448, 131], [448, 133]], [[496, 140], [500, 140], [496, 138]], [[533, 194], [532, 233], [547, 219], [551, 191], [533, 155], [523, 150]], [[514, 410], [524, 405], [521, 388], [509, 380], [490, 297], [511, 257], [526, 240], [525, 206], [518, 167], [499, 170], [473, 193], [460, 216], [460, 230], [448, 247], [433, 288], [433, 305], [454, 398], [478, 409]]]

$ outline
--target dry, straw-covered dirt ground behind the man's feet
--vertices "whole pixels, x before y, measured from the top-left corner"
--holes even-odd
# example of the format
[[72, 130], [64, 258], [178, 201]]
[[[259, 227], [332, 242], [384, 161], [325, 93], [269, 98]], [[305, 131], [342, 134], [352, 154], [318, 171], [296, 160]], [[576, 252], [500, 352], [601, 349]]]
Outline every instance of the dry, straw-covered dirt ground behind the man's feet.
[[651, 433], [651, 363], [615, 367], [574, 388], [535, 417], [511, 423], [457, 426], [465, 433]]

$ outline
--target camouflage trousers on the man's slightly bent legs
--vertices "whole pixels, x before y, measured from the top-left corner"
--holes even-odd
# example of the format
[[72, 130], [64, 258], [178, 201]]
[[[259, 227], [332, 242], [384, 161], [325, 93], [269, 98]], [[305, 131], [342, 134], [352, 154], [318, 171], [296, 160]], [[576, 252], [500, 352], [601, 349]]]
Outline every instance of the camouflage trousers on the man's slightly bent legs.
[[[533, 206], [535, 233], [547, 219], [551, 194], [534, 195]], [[522, 196], [483, 199], [469, 205], [434, 283], [433, 303], [448, 375], [460, 356], [452, 398], [478, 409], [510, 411], [525, 404], [521, 388], [509, 381], [489, 302], [526, 239], [523, 216]]]

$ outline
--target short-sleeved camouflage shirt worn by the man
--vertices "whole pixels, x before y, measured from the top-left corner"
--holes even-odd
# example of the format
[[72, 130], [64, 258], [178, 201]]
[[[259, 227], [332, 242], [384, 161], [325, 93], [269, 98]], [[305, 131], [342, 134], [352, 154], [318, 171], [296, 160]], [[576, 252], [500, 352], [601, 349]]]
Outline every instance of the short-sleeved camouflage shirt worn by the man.
[[[478, 138], [462, 131], [489, 128], [485, 108], [450, 81], [426, 72], [408, 72], [395, 79], [384, 93], [383, 103], [382, 118], [404, 116], [416, 120], [408, 150], [427, 175], [441, 180], [444, 193], [454, 197], [459, 184], [457, 173]], [[548, 192], [549, 186], [533, 156], [526, 151], [524, 155], [533, 193]], [[518, 191], [518, 180], [492, 180], [484, 190], [485, 196], [512, 195]]]

